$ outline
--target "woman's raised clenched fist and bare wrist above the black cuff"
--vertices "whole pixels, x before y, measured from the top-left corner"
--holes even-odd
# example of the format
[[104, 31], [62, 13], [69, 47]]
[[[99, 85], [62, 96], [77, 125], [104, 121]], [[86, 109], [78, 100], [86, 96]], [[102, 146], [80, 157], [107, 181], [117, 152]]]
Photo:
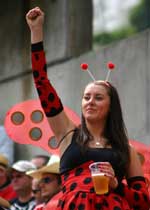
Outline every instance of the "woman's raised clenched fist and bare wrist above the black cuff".
[[26, 14], [26, 21], [31, 30], [31, 42], [43, 41], [44, 13], [39, 7], [35, 7]]

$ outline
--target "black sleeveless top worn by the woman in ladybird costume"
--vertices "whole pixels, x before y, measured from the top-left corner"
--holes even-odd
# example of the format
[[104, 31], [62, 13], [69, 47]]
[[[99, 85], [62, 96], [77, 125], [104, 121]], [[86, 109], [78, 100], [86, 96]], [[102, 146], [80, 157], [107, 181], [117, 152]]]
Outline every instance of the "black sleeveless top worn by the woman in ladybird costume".
[[69, 147], [64, 152], [60, 160], [60, 173], [63, 174], [73, 168], [88, 162], [105, 162], [108, 161], [111, 163], [112, 167], [115, 170], [116, 177], [118, 180], [122, 180], [124, 174], [121, 173], [121, 168], [116, 164], [119, 161], [119, 158], [116, 155], [115, 149], [113, 148], [87, 148], [84, 152], [81, 150], [81, 147], [76, 142], [78, 132], [75, 130], [72, 137], [72, 142]]

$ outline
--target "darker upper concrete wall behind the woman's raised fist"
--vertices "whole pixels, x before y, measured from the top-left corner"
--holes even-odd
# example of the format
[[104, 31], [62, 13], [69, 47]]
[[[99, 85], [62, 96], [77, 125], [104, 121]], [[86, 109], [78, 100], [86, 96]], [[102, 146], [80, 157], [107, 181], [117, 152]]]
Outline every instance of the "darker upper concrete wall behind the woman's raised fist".
[[49, 63], [67, 60], [92, 48], [92, 0], [2, 1], [0, 83], [28, 74], [30, 33], [25, 15], [35, 6], [45, 13], [44, 38]]

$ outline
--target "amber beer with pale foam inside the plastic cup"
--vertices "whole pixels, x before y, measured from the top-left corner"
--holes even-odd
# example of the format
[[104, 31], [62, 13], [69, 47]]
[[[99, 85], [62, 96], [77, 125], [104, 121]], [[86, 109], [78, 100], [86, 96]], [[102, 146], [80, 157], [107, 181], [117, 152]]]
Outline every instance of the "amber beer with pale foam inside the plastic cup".
[[106, 177], [102, 173], [93, 173], [92, 174], [92, 180], [95, 188], [96, 194], [104, 194], [108, 192], [108, 181], [109, 178]]

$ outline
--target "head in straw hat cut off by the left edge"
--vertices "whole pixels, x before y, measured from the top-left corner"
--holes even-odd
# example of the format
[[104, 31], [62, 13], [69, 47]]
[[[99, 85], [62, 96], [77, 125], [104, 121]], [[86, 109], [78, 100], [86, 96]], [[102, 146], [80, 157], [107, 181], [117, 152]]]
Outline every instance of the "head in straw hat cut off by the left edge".
[[0, 187], [9, 181], [8, 167], [8, 159], [0, 154]]

